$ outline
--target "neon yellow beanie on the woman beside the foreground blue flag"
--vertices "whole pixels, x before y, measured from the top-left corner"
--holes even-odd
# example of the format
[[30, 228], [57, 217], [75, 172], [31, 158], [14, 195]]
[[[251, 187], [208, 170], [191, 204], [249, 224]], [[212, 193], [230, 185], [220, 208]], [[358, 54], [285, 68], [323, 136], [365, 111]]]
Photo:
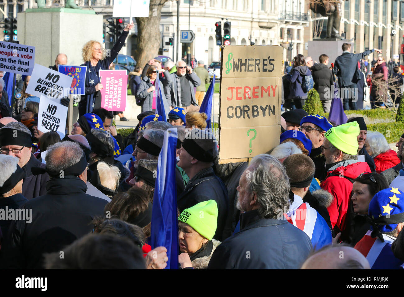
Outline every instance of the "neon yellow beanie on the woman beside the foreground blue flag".
[[178, 220], [187, 223], [208, 240], [212, 240], [217, 227], [217, 214], [216, 201], [207, 200], [184, 209]]

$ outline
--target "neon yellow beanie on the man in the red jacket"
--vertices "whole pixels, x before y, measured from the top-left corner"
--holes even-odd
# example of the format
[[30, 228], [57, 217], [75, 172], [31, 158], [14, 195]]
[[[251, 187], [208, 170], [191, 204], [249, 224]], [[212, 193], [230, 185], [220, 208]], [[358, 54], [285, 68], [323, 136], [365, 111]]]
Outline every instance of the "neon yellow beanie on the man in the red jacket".
[[359, 124], [350, 122], [330, 128], [325, 134], [326, 139], [345, 154], [358, 154]]

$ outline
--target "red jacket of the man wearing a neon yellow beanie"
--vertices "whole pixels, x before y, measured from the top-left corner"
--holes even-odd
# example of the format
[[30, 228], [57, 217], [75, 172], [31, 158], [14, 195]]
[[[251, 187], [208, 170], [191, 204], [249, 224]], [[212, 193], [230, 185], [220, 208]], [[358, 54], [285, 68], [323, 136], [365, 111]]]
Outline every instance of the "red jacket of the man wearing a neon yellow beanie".
[[[370, 168], [366, 162], [356, 162], [349, 164], [354, 160], [342, 161], [341, 165], [336, 169], [327, 172], [327, 177], [321, 183], [322, 189], [330, 192], [334, 196], [331, 205], [328, 207], [332, 228], [336, 225], [341, 233], [344, 233], [346, 228], [346, 216], [351, 199], [352, 182], [349, 179], [356, 179], [361, 173], [368, 171]], [[335, 175], [335, 176], [330, 176]]]

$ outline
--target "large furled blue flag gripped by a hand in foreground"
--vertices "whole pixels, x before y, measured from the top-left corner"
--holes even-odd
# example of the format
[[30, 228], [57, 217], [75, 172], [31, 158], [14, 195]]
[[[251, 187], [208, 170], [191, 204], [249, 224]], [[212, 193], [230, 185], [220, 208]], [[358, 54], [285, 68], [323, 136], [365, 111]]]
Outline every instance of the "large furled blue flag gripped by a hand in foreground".
[[163, 147], [158, 156], [150, 236], [152, 249], [158, 246], [165, 246], [167, 249], [166, 269], [178, 269], [176, 149], [177, 128], [170, 128], [164, 133]]

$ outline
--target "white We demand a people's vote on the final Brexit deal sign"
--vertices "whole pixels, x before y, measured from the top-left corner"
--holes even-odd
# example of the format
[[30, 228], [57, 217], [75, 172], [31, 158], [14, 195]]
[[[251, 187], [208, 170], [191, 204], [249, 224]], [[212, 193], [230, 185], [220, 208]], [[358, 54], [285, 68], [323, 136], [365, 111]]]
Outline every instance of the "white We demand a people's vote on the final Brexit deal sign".
[[0, 41], [0, 71], [31, 75], [35, 46]]

